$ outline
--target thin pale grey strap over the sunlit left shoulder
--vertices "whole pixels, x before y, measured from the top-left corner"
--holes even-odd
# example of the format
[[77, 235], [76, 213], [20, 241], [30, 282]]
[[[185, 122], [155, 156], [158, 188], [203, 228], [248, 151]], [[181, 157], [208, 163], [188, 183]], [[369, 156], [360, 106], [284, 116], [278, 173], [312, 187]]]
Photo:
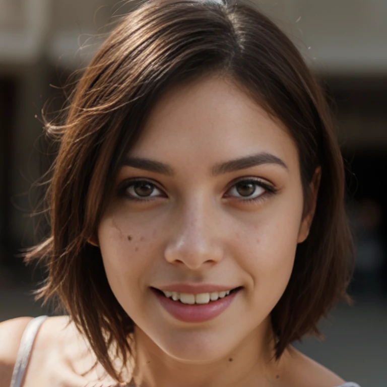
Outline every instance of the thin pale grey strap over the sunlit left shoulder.
[[30, 358], [32, 345], [34, 344], [35, 336], [38, 333], [42, 322], [48, 316], [43, 315], [33, 318], [23, 332], [20, 341], [18, 355], [16, 357], [14, 371], [12, 373], [12, 381], [10, 387], [21, 387], [23, 376], [27, 368], [28, 360]]

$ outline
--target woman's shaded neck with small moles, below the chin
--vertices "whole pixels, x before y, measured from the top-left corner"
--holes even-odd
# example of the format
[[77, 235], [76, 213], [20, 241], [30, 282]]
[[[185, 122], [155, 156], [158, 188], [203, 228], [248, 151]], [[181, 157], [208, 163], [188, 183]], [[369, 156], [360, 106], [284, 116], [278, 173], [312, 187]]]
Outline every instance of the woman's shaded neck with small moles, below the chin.
[[141, 387], [280, 386], [286, 356], [274, 358], [270, 319], [250, 332], [236, 348], [211, 362], [193, 363], [165, 353], [138, 327], [135, 329], [136, 385]]

